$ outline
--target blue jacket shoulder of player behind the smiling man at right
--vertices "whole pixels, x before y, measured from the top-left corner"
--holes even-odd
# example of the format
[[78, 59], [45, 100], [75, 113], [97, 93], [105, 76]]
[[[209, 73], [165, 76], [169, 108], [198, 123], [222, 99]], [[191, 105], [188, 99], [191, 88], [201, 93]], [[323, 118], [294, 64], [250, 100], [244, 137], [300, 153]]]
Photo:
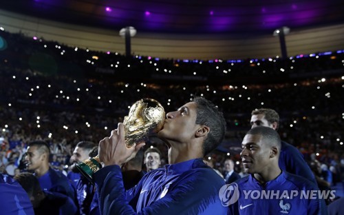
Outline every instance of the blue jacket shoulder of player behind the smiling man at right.
[[279, 167], [281, 170], [290, 172], [291, 174], [296, 174], [307, 178], [317, 185], [315, 176], [310, 170], [310, 166], [303, 159], [303, 155], [293, 145], [281, 141], [281, 153], [279, 154]]

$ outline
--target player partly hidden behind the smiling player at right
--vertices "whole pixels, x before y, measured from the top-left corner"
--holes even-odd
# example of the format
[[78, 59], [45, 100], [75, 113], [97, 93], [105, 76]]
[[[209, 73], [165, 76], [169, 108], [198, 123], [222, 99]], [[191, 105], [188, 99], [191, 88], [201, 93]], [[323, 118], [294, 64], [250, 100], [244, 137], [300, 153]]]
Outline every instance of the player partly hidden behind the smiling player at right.
[[[250, 124], [252, 127], [266, 126], [272, 127], [274, 130], [279, 128], [279, 114], [275, 110], [261, 108], [253, 110], [251, 115]], [[315, 176], [312, 170], [310, 170], [310, 166], [303, 159], [301, 152], [297, 147], [284, 141], [281, 141], [279, 167], [286, 172], [303, 176], [317, 185]]]

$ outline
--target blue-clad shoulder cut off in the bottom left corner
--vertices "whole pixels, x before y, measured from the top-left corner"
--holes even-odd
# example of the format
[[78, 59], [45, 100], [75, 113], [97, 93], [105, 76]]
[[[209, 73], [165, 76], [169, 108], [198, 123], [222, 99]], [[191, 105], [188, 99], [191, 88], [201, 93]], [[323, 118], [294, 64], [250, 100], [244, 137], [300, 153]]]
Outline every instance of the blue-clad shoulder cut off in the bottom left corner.
[[0, 174], [0, 214], [34, 215], [28, 194], [8, 175]]

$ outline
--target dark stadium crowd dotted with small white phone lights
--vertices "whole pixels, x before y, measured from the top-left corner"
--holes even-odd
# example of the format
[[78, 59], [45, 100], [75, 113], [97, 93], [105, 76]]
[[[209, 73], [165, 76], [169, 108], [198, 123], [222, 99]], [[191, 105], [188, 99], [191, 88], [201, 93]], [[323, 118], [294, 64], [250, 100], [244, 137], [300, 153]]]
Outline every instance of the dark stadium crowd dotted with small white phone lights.
[[[135, 101], [153, 98], [169, 112], [204, 96], [224, 112], [227, 123], [224, 143], [205, 156], [220, 173], [228, 158], [235, 172], [242, 173], [239, 152], [229, 145], [241, 143], [251, 127], [252, 110], [265, 107], [279, 113], [281, 139], [297, 147], [310, 165], [319, 161], [319, 177], [329, 187], [343, 183], [341, 50], [290, 59], [200, 61], [127, 58], [8, 32], [0, 37], [6, 41], [0, 50], [3, 174], [25, 172], [28, 143], [42, 140], [50, 145], [51, 165], [67, 175], [76, 144], [98, 144], [109, 136]], [[163, 166], [168, 163], [166, 146], [153, 140], [144, 150], [157, 147]]]

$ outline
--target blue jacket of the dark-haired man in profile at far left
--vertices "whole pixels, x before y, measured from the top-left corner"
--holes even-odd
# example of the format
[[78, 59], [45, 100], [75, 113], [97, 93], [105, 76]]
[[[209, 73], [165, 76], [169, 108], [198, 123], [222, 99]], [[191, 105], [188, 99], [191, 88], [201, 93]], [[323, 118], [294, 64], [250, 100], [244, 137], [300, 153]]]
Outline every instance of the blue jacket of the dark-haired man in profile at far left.
[[62, 172], [49, 168], [48, 172], [38, 179], [43, 191], [58, 192], [69, 196], [76, 202], [74, 187]]

